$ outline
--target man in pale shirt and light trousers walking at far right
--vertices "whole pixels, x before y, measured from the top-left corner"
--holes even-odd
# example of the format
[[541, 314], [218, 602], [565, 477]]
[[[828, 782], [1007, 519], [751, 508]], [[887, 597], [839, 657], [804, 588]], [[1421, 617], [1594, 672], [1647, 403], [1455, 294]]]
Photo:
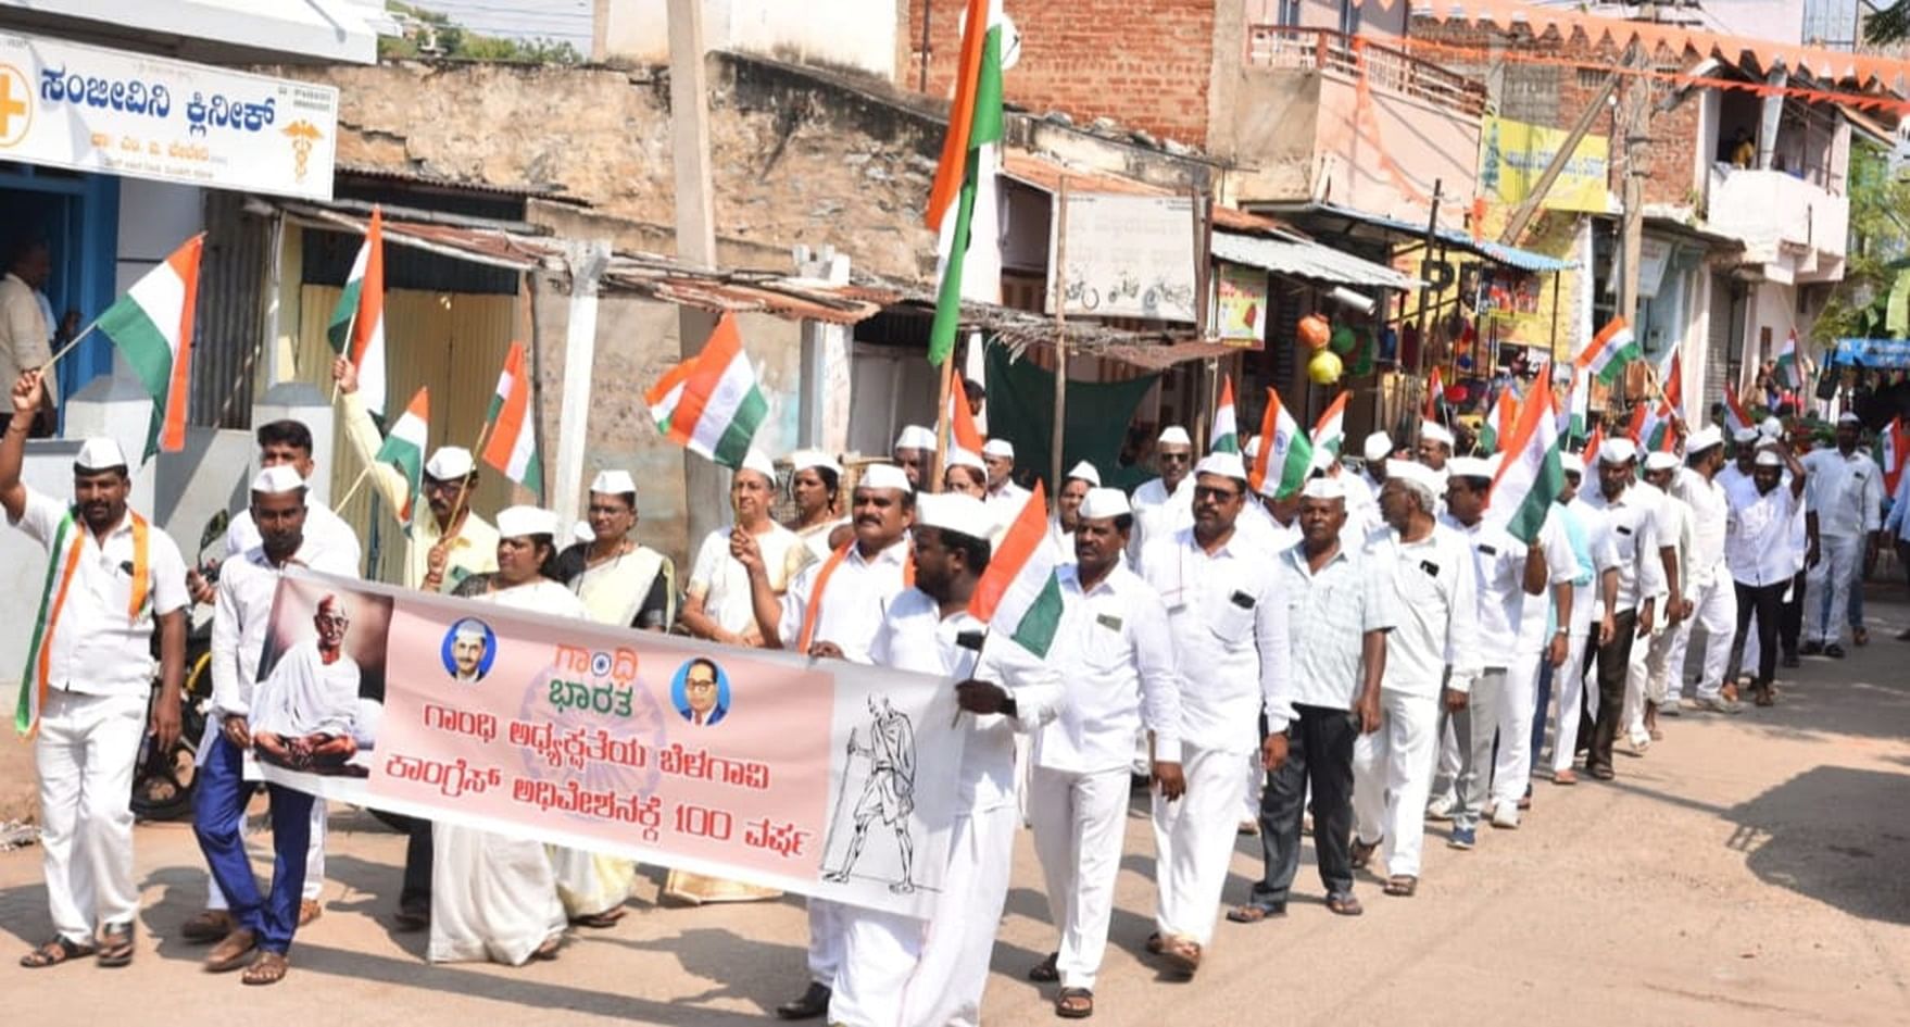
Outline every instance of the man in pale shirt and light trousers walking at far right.
[[1836, 449], [1814, 449], [1803, 456], [1811, 472], [1805, 508], [1816, 515], [1818, 561], [1805, 588], [1803, 653], [1843, 657], [1843, 624], [1851, 590], [1862, 588], [1864, 565], [1878, 555], [1883, 527], [1883, 472], [1857, 447], [1862, 422], [1845, 412], [1837, 418]]

